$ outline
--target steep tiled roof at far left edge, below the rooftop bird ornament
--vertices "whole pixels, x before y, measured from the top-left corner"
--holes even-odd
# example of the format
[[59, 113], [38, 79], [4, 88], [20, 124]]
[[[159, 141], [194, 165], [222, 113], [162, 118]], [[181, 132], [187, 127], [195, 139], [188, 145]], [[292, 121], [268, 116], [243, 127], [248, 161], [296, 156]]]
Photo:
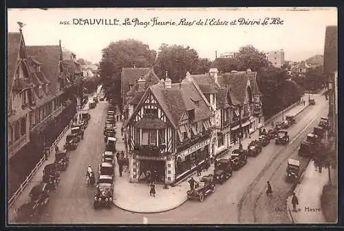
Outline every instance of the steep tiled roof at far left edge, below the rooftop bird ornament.
[[[21, 43], [21, 33], [9, 32], [8, 33], [8, 59], [7, 59], [7, 68], [8, 68], [8, 96], [11, 94], [12, 82], [14, 79], [14, 72], [17, 66], [17, 59], [19, 56], [19, 46]], [[10, 100], [8, 100], [10, 103]], [[9, 105], [8, 105], [9, 106]]]

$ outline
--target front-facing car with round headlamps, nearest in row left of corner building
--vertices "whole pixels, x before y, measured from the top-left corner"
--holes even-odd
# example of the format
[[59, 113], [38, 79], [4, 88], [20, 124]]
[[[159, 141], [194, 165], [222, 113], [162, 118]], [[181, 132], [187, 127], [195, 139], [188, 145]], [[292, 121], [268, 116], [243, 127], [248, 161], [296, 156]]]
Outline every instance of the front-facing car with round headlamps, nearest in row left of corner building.
[[114, 180], [110, 176], [101, 175], [97, 184], [97, 192], [94, 195], [94, 208], [99, 205], [112, 205]]

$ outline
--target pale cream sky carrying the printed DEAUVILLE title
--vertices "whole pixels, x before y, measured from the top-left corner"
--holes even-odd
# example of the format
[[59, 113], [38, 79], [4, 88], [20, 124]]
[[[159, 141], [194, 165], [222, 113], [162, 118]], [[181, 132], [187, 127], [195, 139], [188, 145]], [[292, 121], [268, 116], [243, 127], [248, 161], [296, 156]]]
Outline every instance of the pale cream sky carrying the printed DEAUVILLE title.
[[[160, 22], [160, 25], [154, 23], [154, 18]], [[279, 21], [273, 18], [279, 18]], [[18, 21], [25, 23], [23, 34], [26, 46], [58, 45], [61, 39], [61, 45], [67, 50], [72, 50], [77, 58], [93, 63], [100, 61], [103, 48], [112, 41], [121, 39], [138, 39], [157, 51], [162, 43], [190, 46], [197, 50], [200, 57], [211, 60], [215, 59], [215, 51], [219, 56], [223, 52], [237, 51], [241, 46], [250, 44], [261, 51], [283, 49], [286, 60], [302, 61], [314, 54], [323, 54], [325, 27], [337, 25], [337, 10], [336, 8], [8, 9], [8, 32], [19, 31]], [[96, 21], [98, 25], [86, 25], [87, 21]], [[244, 21], [257, 22], [255, 25], [243, 25]], [[64, 22], [68, 24], [63, 25]], [[127, 22], [131, 22], [131, 25]], [[175, 25], [171, 25], [171, 22]], [[185, 25], [188, 23], [191, 24]]]

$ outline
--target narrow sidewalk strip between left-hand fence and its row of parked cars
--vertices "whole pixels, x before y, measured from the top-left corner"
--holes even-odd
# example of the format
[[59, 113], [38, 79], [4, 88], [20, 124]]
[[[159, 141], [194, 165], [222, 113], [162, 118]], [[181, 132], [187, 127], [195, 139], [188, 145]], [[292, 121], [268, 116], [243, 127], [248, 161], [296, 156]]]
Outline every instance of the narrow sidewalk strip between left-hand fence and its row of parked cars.
[[[86, 106], [86, 105], [85, 105]], [[67, 129], [65, 134], [61, 137], [61, 139], [58, 141], [57, 146], [59, 150], [63, 150], [63, 145], [65, 145], [65, 139], [68, 134], [70, 134], [70, 127]], [[26, 188], [23, 190], [23, 192], [20, 194], [20, 196], [14, 201], [13, 205], [8, 208], [8, 222], [13, 223], [16, 218], [16, 210], [20, 208], [23, 204], [28, 203], [31, 199], [29, 197], [29, 194], [34, 188], [34, 185], [37, 185], [41, 183], [43, 179], [43, 170], [46, 165], [50, 163], [54, 163], [55, 161], [55, 155], [50, 154], [49, 157], [47, 157], [47, 160], [43, 162], [41, 167], [37, 170], [36, 174], [34, 174], [34, 177], [32, 177], [32, 180], [28, 183]]]

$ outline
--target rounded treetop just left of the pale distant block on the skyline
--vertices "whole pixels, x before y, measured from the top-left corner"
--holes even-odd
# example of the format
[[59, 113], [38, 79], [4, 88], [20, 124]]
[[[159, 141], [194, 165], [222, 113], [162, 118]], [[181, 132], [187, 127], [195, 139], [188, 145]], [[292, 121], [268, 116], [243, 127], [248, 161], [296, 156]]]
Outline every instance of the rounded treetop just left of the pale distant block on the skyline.
[[252, 45], [241, 47], [236, 59], [241, 64], [241, 70], [250, 68], [252, 71], [258, 71], [261, 68], [268, 68], [269, 66], [266, 55], [263, 52], [259, 52]]

